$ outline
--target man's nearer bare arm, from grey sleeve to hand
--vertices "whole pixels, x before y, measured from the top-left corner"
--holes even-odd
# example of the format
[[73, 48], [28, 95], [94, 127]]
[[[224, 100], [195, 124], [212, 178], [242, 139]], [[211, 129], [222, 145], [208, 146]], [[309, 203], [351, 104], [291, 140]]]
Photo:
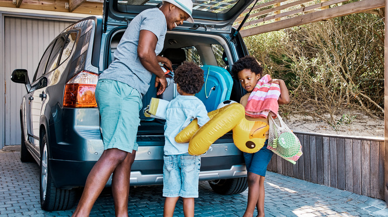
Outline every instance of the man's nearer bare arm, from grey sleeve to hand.
[[156, 44], [158, 38], [154, 33], [148, 30], [140, 30], [139, 44], [137, 46], [137, 55], [139, 56], [141, 64], [148, 71], [156, 75], [155, 87], [160, 83], [157, 95], [162, 94], [167, 87], [166, 76], [158, 63], [158, 58], [155, 54]]

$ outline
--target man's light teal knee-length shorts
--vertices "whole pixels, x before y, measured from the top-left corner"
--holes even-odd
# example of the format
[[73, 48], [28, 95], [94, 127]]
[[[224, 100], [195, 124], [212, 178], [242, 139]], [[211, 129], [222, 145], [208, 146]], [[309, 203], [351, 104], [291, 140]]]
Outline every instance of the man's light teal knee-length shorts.
[[104, 150], [137, 151], [136, 134], [140, 123], [139, 110], [142, 108], [140, 93], [119, 81], [99, 79], [96, 101]]

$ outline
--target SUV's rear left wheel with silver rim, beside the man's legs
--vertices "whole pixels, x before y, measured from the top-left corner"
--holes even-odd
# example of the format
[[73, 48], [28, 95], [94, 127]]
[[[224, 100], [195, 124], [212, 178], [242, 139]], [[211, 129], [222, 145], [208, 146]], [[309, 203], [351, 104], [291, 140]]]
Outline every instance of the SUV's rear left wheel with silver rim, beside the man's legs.
[[47, 136], [44, 134], [41, 143], [39, 191], [40, 206], [46, 211], [66, 210], [72, 208], [76, 191], [55, 187], [50, 172], [47, 152]]

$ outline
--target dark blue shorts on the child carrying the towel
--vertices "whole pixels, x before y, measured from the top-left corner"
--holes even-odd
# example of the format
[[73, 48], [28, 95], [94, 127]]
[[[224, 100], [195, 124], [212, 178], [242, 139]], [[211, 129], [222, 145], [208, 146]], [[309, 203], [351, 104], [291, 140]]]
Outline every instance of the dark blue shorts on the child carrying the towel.
[[244, 153], [245, 164], [247, 165], [247, 171], [261, 176], [266, 176], [267, 166], [270, 163], [272, 155], [274, 153], [267, 149], [268, 139], [256, 153]]

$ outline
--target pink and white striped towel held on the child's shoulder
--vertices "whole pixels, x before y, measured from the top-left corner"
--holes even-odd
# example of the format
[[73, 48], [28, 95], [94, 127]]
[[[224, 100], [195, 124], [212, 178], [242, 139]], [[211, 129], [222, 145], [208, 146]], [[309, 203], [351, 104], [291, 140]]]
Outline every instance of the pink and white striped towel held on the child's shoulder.
[[271, 80], [269, 74], [264, 75], [256, 84], [248, 103], [245, 106], [245, 114], [250, 117], [267, 118], [268, 114], [276, 118], [279, 110], [278, 99], [280, 86], [276, 83], [268, 83]]

